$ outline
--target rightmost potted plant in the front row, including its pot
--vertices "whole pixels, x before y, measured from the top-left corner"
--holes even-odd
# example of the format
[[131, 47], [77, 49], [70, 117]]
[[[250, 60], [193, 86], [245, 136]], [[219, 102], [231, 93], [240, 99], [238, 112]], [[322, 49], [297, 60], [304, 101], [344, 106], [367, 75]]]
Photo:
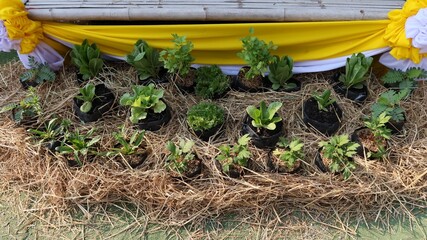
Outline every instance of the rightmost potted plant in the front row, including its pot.
[[360, 146], [357, 154], [367, 159], [379, 159], [387, 153], [387, 140], [390, 139], [391, 130], [386, 127], [391, 117], [387, 112], [378, 116], [371, 115], [364, 121], [365, 127], [356, 129], [351, 136], [352, 141]]

